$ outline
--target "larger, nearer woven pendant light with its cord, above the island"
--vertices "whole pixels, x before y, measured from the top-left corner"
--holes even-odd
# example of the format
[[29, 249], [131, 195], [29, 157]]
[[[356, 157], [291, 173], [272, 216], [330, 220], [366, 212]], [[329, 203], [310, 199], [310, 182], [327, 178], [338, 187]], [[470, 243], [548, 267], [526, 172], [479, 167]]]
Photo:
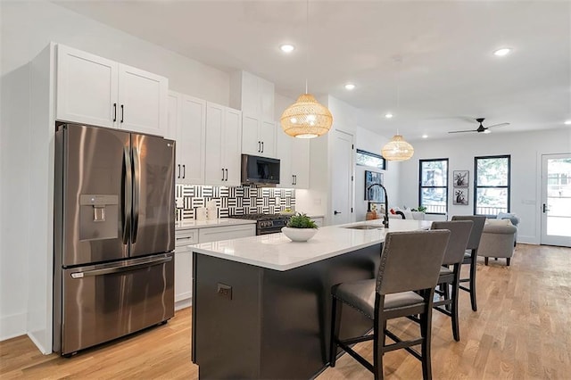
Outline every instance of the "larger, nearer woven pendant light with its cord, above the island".
[[329, 132], [333, 124], [333, 116], [327, 107], [317, 101], [307, 90], [307, 70], [309, 64], [309, 29], [310, 29], [310, 1], [306, 3], [306, 54], [305, 54], [305, 93], [300, 95], [295, 103], [285, 109], [280, 123], [285, 134], [298, 138], [313, 138]]

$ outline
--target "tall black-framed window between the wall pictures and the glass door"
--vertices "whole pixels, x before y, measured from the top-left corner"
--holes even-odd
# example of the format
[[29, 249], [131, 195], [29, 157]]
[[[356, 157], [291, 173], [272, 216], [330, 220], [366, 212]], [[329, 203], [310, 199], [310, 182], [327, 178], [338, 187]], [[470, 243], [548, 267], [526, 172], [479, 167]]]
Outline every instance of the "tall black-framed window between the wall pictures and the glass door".
[[509, 212], [510, 156], [474, 158], [474, 214]]

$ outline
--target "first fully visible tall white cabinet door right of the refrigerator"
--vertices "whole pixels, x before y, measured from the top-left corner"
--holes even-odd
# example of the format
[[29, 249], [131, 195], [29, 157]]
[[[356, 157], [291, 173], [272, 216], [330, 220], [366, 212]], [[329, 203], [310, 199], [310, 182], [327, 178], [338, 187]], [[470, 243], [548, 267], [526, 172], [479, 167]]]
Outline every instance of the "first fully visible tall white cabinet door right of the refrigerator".
[[177, 138], [178, 183], [202, 185], [206, 145], [206, 102], [183, 95], [180, 102], [180, 124]]

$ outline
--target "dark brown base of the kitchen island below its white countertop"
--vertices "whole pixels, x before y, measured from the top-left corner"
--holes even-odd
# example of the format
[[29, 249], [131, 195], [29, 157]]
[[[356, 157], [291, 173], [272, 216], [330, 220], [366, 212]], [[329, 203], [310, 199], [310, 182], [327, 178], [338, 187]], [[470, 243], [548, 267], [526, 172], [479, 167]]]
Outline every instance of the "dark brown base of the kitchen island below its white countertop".
[[[329, 358], [331, 286], [375, 277], [380, 251], [377, 244], [287, 271], [194, 252], [192, 360], [200, 378], [317, 376]], [[343, 309], [342, 338], [371, 328]]]

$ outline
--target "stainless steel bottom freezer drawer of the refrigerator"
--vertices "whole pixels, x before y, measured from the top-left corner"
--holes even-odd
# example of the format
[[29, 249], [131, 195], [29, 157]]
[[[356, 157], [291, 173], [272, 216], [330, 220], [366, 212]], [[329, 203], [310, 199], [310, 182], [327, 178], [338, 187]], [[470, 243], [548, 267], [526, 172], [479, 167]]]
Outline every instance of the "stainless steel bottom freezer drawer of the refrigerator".
[[63, 269], [61, 350], [55, 351], [70, 354], [173, 316], [173, 252]]

